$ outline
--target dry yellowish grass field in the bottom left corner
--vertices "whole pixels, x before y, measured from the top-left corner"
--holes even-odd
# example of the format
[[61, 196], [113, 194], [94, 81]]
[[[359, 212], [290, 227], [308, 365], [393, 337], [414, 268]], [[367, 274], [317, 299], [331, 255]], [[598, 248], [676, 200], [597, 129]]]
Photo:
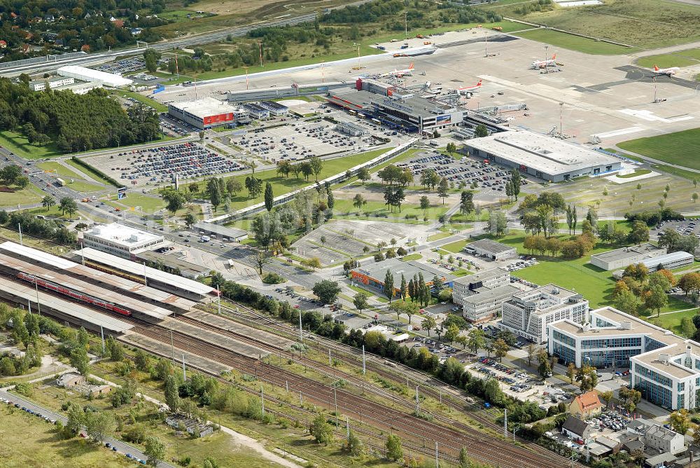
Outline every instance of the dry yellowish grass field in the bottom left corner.
[[134, 462], [85, 439], [64, 441], [53, 425], [2, 405], [0, 409], [0, 465], [3, 468], [133, 467]]

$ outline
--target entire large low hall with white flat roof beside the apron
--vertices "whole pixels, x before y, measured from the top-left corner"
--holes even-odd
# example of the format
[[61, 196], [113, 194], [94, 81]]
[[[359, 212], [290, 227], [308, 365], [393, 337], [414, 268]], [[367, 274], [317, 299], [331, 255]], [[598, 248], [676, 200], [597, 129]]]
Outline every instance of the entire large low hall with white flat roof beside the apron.
[[610, 174], [622, 167], [621, 160], [608, 154], [528, 130], [498, 132], [464, 144], [472, 156], [552, 182]]

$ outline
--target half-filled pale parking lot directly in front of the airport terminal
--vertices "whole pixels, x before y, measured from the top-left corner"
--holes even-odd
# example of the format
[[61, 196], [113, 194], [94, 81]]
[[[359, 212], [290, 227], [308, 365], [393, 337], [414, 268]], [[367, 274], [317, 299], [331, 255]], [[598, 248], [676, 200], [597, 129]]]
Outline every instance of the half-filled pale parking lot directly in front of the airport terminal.
[[302, 160], [341, 151], [358, 151], [374, 143], [372, 137], [350, 137], [335, 130], [328, 122], [291, 123], [266, 130], [255, 130], [233, 137], [232, 144], [253, 153], [258, 158], [272, 160]]

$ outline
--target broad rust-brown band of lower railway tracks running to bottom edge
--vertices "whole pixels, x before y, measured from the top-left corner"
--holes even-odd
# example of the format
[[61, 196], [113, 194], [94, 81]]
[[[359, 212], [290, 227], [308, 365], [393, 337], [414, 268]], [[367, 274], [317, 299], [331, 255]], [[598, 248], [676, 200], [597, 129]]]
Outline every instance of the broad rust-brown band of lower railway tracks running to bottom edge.
[[[169, 343], [171, 330], [158, 325], [134, 326], [134, 332], [144, 334], [154, 340]], [[552, 454], [547, 456], [533, 453], [525, 448], [513, 446], [506, 441], [479, 434], [475, 429], [465, 426], [455, 429], [437, 425], [435, 422], [423, 420], [391, 406], [375, 403], [369, 399], [360, 397], [342, 390], [332, 388], [330, 385], [318, 383], [315, 380], [297, 376], [279, 367], [265, 364], [257, 359], [237, 355], [231, 350], [213, 343], [202, 343], [201, 340], [192, 338], [184, 333], [172, 332], [174, 344], [194, 354], [214, 359], [223, 364], [228, 364], [241, 372], [254, 375], [258, 380], [276, 387], [288, 388], [290, 392], [300, 393], [307, 399], [328, 406], [333, 411], [358, 418], [360, 423], [368, 423], [379, 429], [395, 430], [412, 440], [413, 444], [430, 441], [429, 453], [433, 453], [432, 446], [438, 443], [442, 453], [449, 457], [455, 457], [459, 450], [468, 447], [472, 457], [482, 462], [498, 464], [506, 468], [559, 468], [562, 463], [552, 460]], [[337, 405], [337, 406], [336, 406]], [[463, 432], [468, 429], [469, 432]], [[475, 453], [475, 448], [477, 452]]]

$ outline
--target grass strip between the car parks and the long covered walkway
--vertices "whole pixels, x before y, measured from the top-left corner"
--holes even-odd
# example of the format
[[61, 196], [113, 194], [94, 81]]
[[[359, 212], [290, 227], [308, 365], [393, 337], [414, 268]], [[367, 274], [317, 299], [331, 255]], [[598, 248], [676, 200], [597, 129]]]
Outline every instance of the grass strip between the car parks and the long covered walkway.
[[[366, 163], [367, 161], [376, 158], [386, 151], [388, 151], [388, 149], [375, 149], [365, 153], [345, 156], [344, 158], [325, 160], [323, 161], [323, 169], [318, 174], [318, 180], [320, 181], [332, 175], [338, 174], [339, 172], [344, 172], [358, 164]], [[248, 175], [249, 174], [242, 174], [233, 177], [239, 179], [239, 181], [241, 181], [241, 185], [245, 186], [246, 177], [248, 177]], [[302, 174], [299, 174], [299, 179], [294, 177], [294, 174], [290, 174], [289, 177], [283, 177], [277, 174], [276, 170], [274, 169], [255, 172], [255, 177], [262, 180], [263, 187], [265, 187], [267, 182], [272, 184], [272, 192], [274, 193], [274, 196], [284, 195], [285, 193], [297, 190], [297, 188], [304, 188], [316, 184], [316, 179], [314, 176], [310, 176], [308, 181], [302, 177]], [[200, 191], [203, 191], [204, 188], [206, 188], [206, 184], [206, 181], [200, 182]], [[244, 191], [239, 192], [238, 195], [232, 197], [230, 207], [232, 209], [240, 209], [260, 203], [262, 200], [262, 194], [256, 198], [250, 198], [248, 197], [248, 191], [244, 189]], [[336, 205], [338, 202], [339, 200], [336, 200]], [[336, 209], [336, 211], [338, 211], [338, 209]]]

